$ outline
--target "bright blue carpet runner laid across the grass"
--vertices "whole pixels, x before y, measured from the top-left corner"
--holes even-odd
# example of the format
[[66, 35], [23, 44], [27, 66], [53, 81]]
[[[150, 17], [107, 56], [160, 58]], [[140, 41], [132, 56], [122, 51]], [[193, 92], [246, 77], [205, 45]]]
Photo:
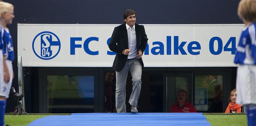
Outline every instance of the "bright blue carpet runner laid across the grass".
[[74, 113], [51, 115], [28, 126], [211, 126], [202, 113]]

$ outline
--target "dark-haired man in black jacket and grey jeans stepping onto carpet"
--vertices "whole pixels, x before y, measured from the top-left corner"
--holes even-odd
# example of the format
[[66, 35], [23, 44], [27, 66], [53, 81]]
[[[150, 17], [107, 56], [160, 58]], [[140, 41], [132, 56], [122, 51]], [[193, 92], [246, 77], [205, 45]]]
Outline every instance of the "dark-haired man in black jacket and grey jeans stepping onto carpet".
[[141, 68], [144, 67], [142, 54], [148, 38], [143, 25], [135, 24], [133, 10], [124, 12], [124, 24], [115, 27], [109, 49], [116, 52], [113, 69], [116, 71], [116, 112], [125, 113], [125, 85], [128, 71], [132, 75], [132, 94], [129, 100], [131, 112], [138, 112], [138, 99], [141, 88]]

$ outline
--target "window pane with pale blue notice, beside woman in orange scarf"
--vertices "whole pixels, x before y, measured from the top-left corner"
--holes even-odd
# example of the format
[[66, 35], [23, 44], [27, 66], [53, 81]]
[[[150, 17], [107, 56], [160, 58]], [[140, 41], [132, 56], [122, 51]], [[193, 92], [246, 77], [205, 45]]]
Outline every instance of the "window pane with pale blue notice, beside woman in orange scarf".
[[198, 112], [222, 113], [223, 76], [195, 76], [195, 107]]

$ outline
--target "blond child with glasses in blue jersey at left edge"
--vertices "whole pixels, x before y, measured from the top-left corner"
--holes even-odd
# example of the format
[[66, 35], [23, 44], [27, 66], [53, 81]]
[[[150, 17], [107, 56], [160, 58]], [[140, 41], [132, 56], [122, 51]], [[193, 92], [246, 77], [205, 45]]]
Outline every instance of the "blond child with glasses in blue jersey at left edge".
[[6, 99], [9, 98], [11, 91], [13, 68], [12, 61], [14, 60], [12, 36], [7, 25], [12, 24], [14, 18], [14, 6], [10, 3], [0, 1], [0, 19], [1, 19], [1, 40], [3, 56], [3, 76], [0, 82], [0, 126], [4, 124], [4, 112], [6, 107]]

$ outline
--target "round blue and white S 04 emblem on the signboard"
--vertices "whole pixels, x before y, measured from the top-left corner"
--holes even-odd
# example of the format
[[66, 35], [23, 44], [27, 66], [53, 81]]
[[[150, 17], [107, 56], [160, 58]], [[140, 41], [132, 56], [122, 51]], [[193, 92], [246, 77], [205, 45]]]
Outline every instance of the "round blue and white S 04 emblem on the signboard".
[[60, 52], [60, 39], [52, 32], [41, 32], [34, 38], [32, 48], [38, 58], [49, 60]]

